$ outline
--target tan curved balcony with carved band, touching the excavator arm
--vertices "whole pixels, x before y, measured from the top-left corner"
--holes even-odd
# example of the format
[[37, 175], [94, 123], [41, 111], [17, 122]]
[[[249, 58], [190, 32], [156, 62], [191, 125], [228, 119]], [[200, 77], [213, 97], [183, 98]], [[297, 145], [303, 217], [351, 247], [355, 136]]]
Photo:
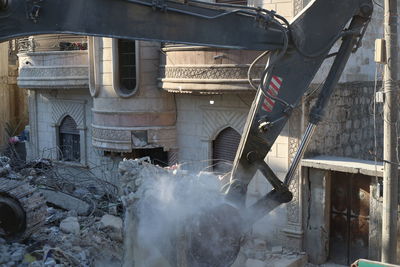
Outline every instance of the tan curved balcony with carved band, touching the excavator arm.
[[[172, 93], [223, 94], [253, 92], [247, 79], [251, 62], [260, 51], [217, 49], [205, 46], [167, 45], [163, 48], [159, 86]], [[265, 67], [252, 71], [255, 82]]]

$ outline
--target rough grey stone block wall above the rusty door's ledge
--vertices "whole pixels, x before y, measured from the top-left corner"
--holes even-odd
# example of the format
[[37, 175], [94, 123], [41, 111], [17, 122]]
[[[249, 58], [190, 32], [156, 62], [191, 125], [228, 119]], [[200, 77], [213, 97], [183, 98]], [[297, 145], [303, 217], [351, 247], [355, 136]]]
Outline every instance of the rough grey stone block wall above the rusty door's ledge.
[[[380, 87], [378, 86], [377, 89]], [[317, 94], [305, 97], [308, 114]], [[306, 157], [330, 155], [373, 160], [374, 152], [374, 83], [338, 85], [326, 107], [324, 120], [317, 127]], [[306, 115], [308, 116], [308, 115]], [[376, 140], [378, 160], [383, 144], [382, 104], [377, 103]]]

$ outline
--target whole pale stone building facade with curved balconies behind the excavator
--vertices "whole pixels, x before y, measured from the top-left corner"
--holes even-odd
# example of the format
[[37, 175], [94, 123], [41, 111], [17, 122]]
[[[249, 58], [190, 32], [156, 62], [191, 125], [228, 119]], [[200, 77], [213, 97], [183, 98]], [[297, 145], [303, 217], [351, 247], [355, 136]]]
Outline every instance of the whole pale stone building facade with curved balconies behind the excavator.
[[[308, 2], [249, 0], [248, 4], [274, 9], [290, 20]], [[376, 11], [363, 47], [351, 57], [330, 101], [327, 112], [330, 115], [315, 133], [307, 151], [306, 156], [314, 159], [311, 163], [304, 161], [291, 185], [294, 200], [272, 216], [260, 220], [253, 228], [253, 234], [269, 240], [269, 244], [306, 250], [314, 263], [332, 257], [329, 254], [332, 239], [329, 236], [330, 194], [334, 192], [331, 192], [330, 184], [335, 183], [335, 178], [320, 179], [319, 186], [315, 186], [318, 183], [311, 186], [310, 181], [318, 177], [333, 177], [331, 172], [358, 173], [355, 168], [345, 171], [336, 168], [340, 161], [319, 169], [316, 166], [322, 165], [315, 156], [370, 160], [374, 158], [373, 153], [381, 153], [374, 150], [373, 141], [374, 132], [380, 140], [381, 120], [378, 118], [375, 131], [375, 121], [371, 117], [371, 99], [375, 91], [373, 44], [374, 39], [381, 35], [382, 25], [379, 8]], [[120, 53], [125, 49], [124, 44], [118, 40], [75, 36], [38, 36], [31, 40], [35, 47], [19, 54], [18, 78], [19, 86], [29, 92], [30, 157], [49, 157], [96, 172], [111, 182], [117, 183], [116, 166], [123, 157], [150, 156], [161, 165], [178, 162], [192, 171], [213, 171], [216, 150], [232, 151], [230, 148], [235, 145], [227, 144], [220, 148], [216, 144], [228, 130], [232, 135], [242, 132], [255, 96], [247, 83], [247, 68], [260, 51], [161, 46], [137, 41], [125, 47], [125, 56], [130, 58], [125, 62]], [[61, 43], [84, 50], [59, 51]], [[295, 110], [266, 158], [281, 179], [299, 145], [308, 110], [315, 102], [313, 88], [324, 80], [329, 65], [328, 60], [322, 66], [310, 93]], [[257, 66], [259, 70], [262, 67]], [[125, 86], [124, 77], [121, 78], [121, 74], [126, 73], [124, 70], [130, 75], [129, 88]], [[67, 121], [75, 124], [67, 125]], [[69, 126], [68, 130], [64, 131], [64, 126]], [[60, 157], [70, 153], [62, 148], [63, 138], [65, 142], [72, 142], [69, 143], [71, 147], [74, 140], [79, 140], [79, 145], [75, 143], [79, 157], [72, 156], [72, 160]], [[379, 142], [377, 146], [380, 146]], [[76, 153], [72, 152], [72, 155]], [[360, 167], [363, 170], [369, 168], [370, 165]], [[313, 172], [319, 176], [310, 174]], [[369, 176], [378, 175], [378, 172], [367, 173]], [[370, 192], [378, 188], [377, 183], [370, 186]], [[266, 180], [257, 174], [250, 184], [248, 203], [270, 189]], [[321, 201], [321, 198], [327, 201]], [[372, 216], [378, 210], [374, 207], [379, 206], [379, 199], [375, 202], [372, 197], [370, 199]], [[315, 206], [318, 203], [323, 204]], [[321, 213], [315, 216], [316, 222], [310, 223], [311, 207], [316, 207], [315, 210], [321, 210]], [[377, 214], [370, 221], [378, 218]], [[373, 227], [379, 228], [379, 222], [371, 224], [370, 229]], [[376, 231], [374, 233], [370, 233], [367, 249], [372, 254], [379, 244]], [[314, 244], [315, 238], [321, 239], [322, 243], [316, 250], [317, 254], [312, 254], [310, 244]], [[367, 256], [377, 257], [372, 254]]]

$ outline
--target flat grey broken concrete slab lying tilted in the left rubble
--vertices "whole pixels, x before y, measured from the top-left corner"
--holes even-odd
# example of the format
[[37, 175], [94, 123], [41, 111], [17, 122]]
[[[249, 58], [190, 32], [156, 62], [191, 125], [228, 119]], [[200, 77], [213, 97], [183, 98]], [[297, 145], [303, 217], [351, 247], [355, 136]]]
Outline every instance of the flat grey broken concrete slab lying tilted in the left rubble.
[[51, 189], [39, 189], [44, 195], [46, 201], [66, 210], [75, 210], [78, 215], [87, 215], [90, 211], [90, 205], [85, 201]]

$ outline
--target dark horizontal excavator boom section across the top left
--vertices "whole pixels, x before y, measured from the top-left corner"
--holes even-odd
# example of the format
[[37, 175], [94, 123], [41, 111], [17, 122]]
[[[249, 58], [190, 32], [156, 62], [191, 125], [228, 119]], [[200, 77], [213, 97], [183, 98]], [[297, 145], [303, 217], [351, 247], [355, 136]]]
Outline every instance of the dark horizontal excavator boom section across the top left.
[[0, 0], [0, 41], [36, 34], [73, 33], [274, 50], [284, 42], [283, 29], [274, 21], [272, 12], [245, 7], [224, 10], [197, 1], [183, 4], [168, 0]]

